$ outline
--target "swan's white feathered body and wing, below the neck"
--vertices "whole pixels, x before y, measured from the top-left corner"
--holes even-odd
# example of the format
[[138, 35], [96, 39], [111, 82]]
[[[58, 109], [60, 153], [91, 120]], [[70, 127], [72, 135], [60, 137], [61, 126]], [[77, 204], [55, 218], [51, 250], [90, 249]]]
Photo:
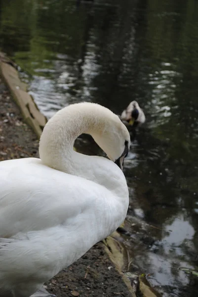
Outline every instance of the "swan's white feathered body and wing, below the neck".
[[0, 282], [42, 284], [108, 236], [121, 223], [111, 195], [37, 159], [0, 162]]

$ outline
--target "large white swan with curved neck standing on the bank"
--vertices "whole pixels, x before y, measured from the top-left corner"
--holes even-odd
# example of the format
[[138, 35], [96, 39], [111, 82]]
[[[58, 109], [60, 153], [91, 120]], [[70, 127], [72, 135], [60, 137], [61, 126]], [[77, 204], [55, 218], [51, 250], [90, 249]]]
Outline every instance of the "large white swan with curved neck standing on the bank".
[[[82, 133], [110, 160], [74, 151]], [[129, 198], [119, 167], [129, 146], [117, 115], [83, 102], [47, 122], [40, 159], [0, 162], [0, 297], [52, 296], [42, 284], [120, 226]]]

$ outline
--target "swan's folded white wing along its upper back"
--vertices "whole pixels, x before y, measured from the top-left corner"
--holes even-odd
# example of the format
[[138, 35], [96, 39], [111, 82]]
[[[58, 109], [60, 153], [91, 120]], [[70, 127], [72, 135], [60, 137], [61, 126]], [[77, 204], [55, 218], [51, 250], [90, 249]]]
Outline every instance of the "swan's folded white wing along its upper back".
[[0, 162], [0, 237], [21, 238], [30, 231], [73, 224], [82, 212], [105, 211], [108, 200], [106, 188], [31, 163], [31, 158]]

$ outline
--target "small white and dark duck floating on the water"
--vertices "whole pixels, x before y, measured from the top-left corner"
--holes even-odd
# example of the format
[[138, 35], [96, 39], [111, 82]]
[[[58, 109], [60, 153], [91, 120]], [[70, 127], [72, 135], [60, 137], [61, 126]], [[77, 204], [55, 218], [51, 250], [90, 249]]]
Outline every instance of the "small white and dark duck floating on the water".
[[143, 110], [135, 100], [131, 101], [126, 109], [122, 111], [120, 118], [122, 121], [128, 122], [128, 124], [133, 127], [140, 126], [146, 120]]

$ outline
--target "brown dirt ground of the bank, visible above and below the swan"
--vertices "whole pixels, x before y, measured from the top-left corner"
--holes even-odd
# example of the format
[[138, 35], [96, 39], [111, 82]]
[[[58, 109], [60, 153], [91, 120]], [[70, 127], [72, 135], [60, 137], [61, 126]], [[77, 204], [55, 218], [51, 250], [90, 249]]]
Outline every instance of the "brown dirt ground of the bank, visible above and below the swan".
[[[21, 117], [19, 108], [0, 80], [0, 161], [38, 157], [38, 139]], [[57, 297], [130, 297], [102, 243], [63, 270], [47, 284]]]

